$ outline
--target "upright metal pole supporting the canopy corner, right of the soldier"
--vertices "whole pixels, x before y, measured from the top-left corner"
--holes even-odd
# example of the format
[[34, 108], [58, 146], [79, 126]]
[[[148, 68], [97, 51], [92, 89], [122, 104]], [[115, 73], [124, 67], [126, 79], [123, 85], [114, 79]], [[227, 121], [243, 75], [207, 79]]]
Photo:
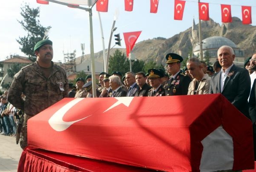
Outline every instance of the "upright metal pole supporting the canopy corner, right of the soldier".
[[89, 26], [90, 26], [90, 55], [92, 65], [92, 83], [93, 83], [93, 97], [96, 97], [96, 79], [95, 79], [95, 64], [94, 64], [94, 47], [93, 47], [93, 12], [89, 9]]

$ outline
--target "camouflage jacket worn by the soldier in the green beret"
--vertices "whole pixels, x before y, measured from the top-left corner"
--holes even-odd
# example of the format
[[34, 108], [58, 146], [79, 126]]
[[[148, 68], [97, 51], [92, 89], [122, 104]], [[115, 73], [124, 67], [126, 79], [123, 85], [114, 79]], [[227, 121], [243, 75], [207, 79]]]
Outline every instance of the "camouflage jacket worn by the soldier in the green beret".
[[34, 116], [65, 97], [68, 97], [68, 79], [64, 69], [52, 62], [52, 71], [46, 78], [34, 62], [15, 74], [7, 99], [14, 107]]

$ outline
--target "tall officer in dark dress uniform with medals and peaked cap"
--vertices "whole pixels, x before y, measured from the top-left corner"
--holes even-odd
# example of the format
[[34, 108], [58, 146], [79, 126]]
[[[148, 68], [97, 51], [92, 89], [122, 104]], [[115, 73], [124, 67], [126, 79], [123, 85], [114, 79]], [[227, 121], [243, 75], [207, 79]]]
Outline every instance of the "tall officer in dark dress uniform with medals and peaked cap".
[[183, 58], [178, 54], [169, 53], [166, 55], [166, 59], [167, 72], [170, 75], [170, 79], [167, 81], [165, 95], [187, 95], [191, 79], [180, 70], [180, 63]]

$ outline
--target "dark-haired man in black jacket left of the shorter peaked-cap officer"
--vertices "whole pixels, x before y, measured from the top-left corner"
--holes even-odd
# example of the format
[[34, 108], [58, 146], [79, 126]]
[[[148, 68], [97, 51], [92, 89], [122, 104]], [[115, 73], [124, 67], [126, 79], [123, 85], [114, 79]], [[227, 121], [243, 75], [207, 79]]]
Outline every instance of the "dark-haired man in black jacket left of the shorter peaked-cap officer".
[[151, 86], [149, 86], [146, 83], [147, 77], [144, 74], [144, 72], [138, 72], [135, 75], [136, 83], [139, 86], [139, 90], [135, 93], [136, 97], [142, 97], [142, 96], [148, 96], [148, 91], [151, 89]]

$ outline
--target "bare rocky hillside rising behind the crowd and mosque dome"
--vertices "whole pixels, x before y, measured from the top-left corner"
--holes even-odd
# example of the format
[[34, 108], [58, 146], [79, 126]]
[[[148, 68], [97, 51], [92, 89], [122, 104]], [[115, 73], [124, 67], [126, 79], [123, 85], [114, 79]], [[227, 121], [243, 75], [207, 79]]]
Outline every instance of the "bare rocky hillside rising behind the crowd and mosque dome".
[[[241, 20], [237, 17], [232, 18], [232, 23], [222, 23], [219, 25], [212, 19], [209, 21], [202, 21], [202, 40], [207, 37], [221, 36], [232, 40], [237, 47], [244, 49], [245, 56], [251, 56], [256, 49], [256, 26], [243, 25]], [[198, 28], [198, 24], [196, 25]], [[157, 64], [165, 65], [165, 55], [169, 52], [175, 52], [182, 55], [183, 58], [188, 57], [188, 52], [191, 51], [191, 28], [174, 35], [166, 40], [152, 39], [144, 40], [133, 48], [133, 53], [137, 59], [144, 61], [156, 61]], [[199, 42], [199, 41], [198, 41]], [[113, 55], [115, 49], [111, 49]], [[125, 49], [120, 49], [125, 53]], [[85, 60], [89, 60], [89, 55], [86, 55]], [[96, 61], [103, 61], [102, 51], [95, 54]], [[81, 61], [80, 57], [77, 61]]]

